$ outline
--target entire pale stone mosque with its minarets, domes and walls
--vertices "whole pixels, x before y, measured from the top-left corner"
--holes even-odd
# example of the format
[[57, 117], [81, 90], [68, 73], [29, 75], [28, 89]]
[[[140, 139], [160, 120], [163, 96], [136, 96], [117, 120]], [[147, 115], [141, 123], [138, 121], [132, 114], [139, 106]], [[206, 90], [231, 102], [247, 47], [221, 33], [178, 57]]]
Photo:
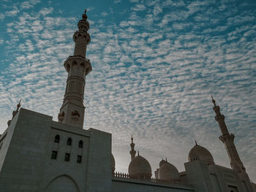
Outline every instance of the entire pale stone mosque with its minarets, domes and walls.
[[[111, 134], [94, 128], [83, 129], [83, 94], [91, 62], [86, 58], [90, 43], [86, 12], [75, 31], [74, 55], [64, 61], [68, 73], [64, 101], [58, 120], [20, 108], [0, 135], [0, 191], [47, 192], [253, 192], [255, 183], [234, 145], [214, 99], [213, 110], [231, 168], [214, 163], [211, 153], [197, 145], [189, 151], [185, 171], [162, 160], [152, 175], [151, 165], [135, 150], [131, 138], [128, 173], [115, 172]], [[137, 154], [136, 154], [137, 153]]]

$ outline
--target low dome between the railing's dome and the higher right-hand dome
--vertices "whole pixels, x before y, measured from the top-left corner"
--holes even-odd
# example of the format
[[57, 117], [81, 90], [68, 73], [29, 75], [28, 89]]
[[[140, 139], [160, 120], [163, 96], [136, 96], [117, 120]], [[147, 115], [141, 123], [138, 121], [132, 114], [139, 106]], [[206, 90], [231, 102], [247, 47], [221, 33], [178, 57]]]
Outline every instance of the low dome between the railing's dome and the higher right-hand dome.
[[162, 164], [159, 168], [159, 179], [170, 181], [170, 180], [180, 180], [178, 169], [170, 163]]

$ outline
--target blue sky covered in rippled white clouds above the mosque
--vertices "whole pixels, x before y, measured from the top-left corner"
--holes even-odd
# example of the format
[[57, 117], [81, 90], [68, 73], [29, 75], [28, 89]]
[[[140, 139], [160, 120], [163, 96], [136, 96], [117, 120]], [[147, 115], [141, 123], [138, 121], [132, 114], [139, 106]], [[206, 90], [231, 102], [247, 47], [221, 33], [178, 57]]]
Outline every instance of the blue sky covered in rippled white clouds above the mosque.
[[127, 172], [131, 135], [153, 174], [162, 158], [184, 171], [195, 140], [230, 167], [212, 94], [256, 181], [255, 1], [0, 1], [0, 134], [20, 99], [57, 120], [86, 8], [84, 128], [112, 134], [116, 171]]

